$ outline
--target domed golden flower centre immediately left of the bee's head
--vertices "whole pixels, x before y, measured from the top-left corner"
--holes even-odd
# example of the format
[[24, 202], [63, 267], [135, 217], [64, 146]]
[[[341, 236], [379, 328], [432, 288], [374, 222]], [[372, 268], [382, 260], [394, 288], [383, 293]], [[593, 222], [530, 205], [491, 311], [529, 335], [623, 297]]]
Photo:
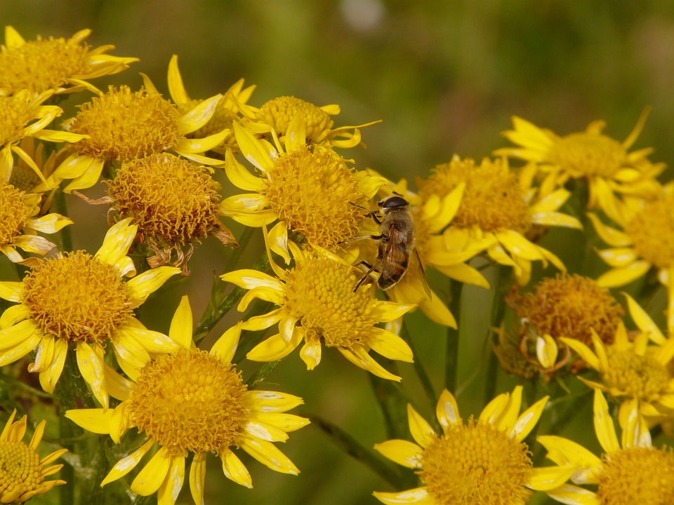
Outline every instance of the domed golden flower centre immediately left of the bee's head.
[[336, 250], [356, 236], [366, 213], [353, 170], [329, 149], [300, 147], [276, 159], [264, 190], [279, 220], [312, 245]]

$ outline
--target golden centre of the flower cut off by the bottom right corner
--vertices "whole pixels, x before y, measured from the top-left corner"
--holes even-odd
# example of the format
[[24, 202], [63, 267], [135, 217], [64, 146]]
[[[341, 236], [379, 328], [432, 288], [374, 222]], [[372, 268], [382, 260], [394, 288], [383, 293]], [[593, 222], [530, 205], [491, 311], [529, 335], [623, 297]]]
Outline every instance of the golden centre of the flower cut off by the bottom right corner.
[[604, 455], [597, 495], [602, 505], [674, 503], [674, 455], [670, 447], [629, 447]]

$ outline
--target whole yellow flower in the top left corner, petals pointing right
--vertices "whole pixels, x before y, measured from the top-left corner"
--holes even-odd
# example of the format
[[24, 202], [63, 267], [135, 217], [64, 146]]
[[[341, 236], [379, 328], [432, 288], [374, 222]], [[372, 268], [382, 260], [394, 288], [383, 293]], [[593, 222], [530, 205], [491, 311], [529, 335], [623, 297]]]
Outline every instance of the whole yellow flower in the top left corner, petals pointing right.
[[37, 40], [27, 42], [13, 27], [5, 27], [5, 43], [0, 46], [0, 95], [13, 95], [22, 89], [36, 95], [46, 90], [72, 93], [88, 89], [98, 93], [88, 79], [117, 74], [138, 61], [105, 54], [114, 46], [92, 49], [84, 42], [90, 34], [90, 29], [84, 29], [70, 39], [37, 36]]

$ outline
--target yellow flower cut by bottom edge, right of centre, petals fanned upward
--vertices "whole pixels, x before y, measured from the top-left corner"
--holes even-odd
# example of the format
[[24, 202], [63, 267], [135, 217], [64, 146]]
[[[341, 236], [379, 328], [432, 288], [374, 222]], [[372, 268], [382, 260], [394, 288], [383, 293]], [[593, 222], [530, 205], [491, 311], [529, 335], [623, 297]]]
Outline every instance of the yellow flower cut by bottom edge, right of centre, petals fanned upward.
[[375, 492], [385, 504], [524, 505], [531, 490], [550, 490], [565, 483], [574, 466], [534, 468], [522, 442], [536, 426], [548, 397], [522, 415], [522, 386], [503, 393], [464, 424], [454, 396], [445, 389], [437, 402], [437, 435], [428, 422], [407, 406], [409, 431], [416, 443], [388, 440], [374, 448], [397, 464], [416, 469], [422, 486], [402, 492]]

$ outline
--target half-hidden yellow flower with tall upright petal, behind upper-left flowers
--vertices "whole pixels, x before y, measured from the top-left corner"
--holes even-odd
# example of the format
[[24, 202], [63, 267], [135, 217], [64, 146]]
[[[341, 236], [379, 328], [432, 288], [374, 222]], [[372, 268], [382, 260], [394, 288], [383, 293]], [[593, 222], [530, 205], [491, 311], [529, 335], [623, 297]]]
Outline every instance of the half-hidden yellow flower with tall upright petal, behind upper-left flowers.
[[[154, 84], [152, 84], [152, 81], [150, 81], [150, 78], [145, 74], [141, 75], [143, 75], [145, 89], [152, 90], [154, 93], [159, 93], [157, 88], [154, 87]], [[225, 140], [223, 140], [222, 144], [218, 147], [221, 148], [225, 145], [236, 150], [234, 147], [235, 142], [234, 133], [232, 132], [232, 123], [234, 122], [234, 119], [239, 119], [239, 113], [251, 119], [255, 117], [256, 109], [246, 105], [246, 102], [250, 99], [255, 88], [255, 86], [248, 86], [244, 89], [244, 79], [239, 79], [239, 81], [234, 83], [227, 91], [225, 91], [225, 93], [223, 93], [223, 98], [218, 102], [218, 107], [216, 107], [209, 122], [199, 128], [199, 130], [188, 133], [186, 136], [188, 138], [206, 137], [227, 130]], [[180, 70], [178, 69], [178, 55], [173, 55], [169, 62], [169, 93], [171, 95], [171, 100], [173, 100], [173, 103], [178, 107], [178, 112], [180, 112], [180, 114], [190, 112], [194, 107], [197, 107], [197, 105], [204, 101], [192, 100], [190, 95], [187, 94], [187, 90], [185, 90], [183, 84], [183, 78], [180, 76]]]

